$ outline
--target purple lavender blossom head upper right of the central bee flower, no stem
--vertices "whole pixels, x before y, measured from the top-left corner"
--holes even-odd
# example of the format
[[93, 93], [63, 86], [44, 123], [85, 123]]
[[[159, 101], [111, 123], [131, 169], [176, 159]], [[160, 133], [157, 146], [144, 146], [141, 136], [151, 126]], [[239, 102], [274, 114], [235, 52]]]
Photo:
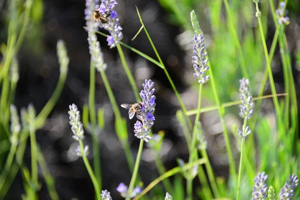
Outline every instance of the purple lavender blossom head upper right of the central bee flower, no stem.
[[204, 44], [204, 38], [201, 33], [199, 34], [194, 34], [193, 37], [193, 51], [192, 53], [194, 54], [192, 58], [192, 63], [194, 67], [194, 77], [197, 78], [199, 83], [205, 83], [209, 80], [209, 75], [204, 75], [204, 72], [208, 70], [207, 62], [208, 58], [207, 52], [205, 52], [205, 44]]

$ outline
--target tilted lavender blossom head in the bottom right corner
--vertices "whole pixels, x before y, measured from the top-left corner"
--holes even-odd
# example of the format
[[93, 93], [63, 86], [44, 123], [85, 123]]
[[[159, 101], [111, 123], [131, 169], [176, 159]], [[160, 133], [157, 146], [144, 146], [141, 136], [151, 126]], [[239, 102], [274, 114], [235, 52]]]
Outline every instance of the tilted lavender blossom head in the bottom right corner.
[[280, 189], [279, 199], [280, 200], [291, 200], [294, 195], [294, 190], [296, 186], [299, 184], [298, 176], [292, 174], [289, 176], [289, 180], [287, 180], [284, 186]]

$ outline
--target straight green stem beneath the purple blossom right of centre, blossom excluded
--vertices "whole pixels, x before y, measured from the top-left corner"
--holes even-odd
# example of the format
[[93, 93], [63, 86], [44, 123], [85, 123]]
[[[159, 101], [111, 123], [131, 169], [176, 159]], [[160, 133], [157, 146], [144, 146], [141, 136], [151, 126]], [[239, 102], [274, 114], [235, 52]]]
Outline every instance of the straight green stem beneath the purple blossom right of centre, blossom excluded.
[[[196, 113], [196, 116], [195, 116], [195, 121], [194, 121], [194, 126], [193, 126], [193, 131], [192, 131], [192, 137], [191, 137], [190, 152], [189, 152], [189, 158], [188, 158], [189, 163], [193, 161], [193, 157], [194, 157], [195, 153], [197, 152], [194, 149], [196, 148], [195, 144], [196, 144], [197, 125], [198, 125], [198, 121], [199, 121], [199, 118], [200, 118], [202, 86], [203, 86], [203, 84], [200, 83], [199, 84], [199, 91], [198, 91], [197, 113]], [[186, 194], [187, 194], [187, 199], [191, 200], [192, 199], [192, 178], [190, 178], [190, 177], [186, 180]]]

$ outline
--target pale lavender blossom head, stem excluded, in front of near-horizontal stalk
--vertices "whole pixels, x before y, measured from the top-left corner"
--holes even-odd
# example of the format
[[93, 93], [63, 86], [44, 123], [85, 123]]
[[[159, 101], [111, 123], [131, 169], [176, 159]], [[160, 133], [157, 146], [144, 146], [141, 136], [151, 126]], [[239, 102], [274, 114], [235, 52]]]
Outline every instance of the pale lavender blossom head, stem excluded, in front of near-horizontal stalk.
[[239, 115], [242, 118], [249, 119], [253, 114], [252, 94], [250, 92], [249, 80], [242, 78], [239, 80], [239, 96], [242, 104], [239, 105]]

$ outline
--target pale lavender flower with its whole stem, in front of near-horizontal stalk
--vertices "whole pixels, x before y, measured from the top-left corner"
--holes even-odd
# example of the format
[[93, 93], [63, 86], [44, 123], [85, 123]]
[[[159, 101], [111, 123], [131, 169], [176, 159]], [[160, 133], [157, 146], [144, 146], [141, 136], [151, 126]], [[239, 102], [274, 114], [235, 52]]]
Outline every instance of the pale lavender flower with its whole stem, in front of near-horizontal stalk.
[[239, 169], [238, 169], [238, 178], [237, 178], [237, 192], [236, 192], [237, 200], [240, 198], [239, 192], [240, 192], [240, 181], [241, 181], [241, 171], [242, 171], [242, 163], [243, 163], [243, 156], [244, 156], [243, 151], [244, 151], [245, 138], [248, 134], [251, 133], [249, 126], [247, 126], [247, 120], [252, 116], [253, 106], [254, 106], [254, 103], [252, 102], [252, 94], [250, 92], [248, 79], [242, 78], [239, 80], [239, 96], [242, 102], [242, 104], [239, 105], [240, 107], [239, 115], [242, 118], [244, 118], [244, 122], [242, 125], [242, 130], [237, 129], [238, 136], [242, 138], [241, 146], [240, 146], [240, 159], [239, 159]]

